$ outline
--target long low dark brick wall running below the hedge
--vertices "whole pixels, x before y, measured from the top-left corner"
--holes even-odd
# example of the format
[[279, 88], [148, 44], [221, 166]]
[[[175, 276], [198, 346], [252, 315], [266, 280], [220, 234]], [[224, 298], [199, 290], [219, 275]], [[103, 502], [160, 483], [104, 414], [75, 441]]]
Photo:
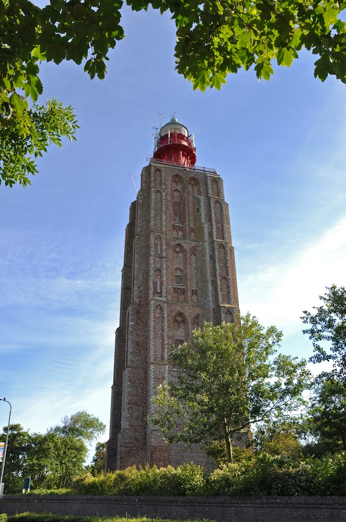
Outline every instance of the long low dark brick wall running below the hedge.
[[346, 497], [4, 495], [0, 513], [147, 516], [217, 522], [344, 522]]

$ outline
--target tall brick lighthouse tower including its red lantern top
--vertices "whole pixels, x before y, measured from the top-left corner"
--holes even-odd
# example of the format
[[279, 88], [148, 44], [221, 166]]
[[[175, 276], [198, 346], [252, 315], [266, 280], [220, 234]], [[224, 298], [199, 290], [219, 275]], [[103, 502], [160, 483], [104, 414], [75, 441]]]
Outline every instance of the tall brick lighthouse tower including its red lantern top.
[[214, 169], [196, 167], [193, 135], [177, 118], [155, 136], [130, 206], [116, 331], [106, 470], [133, 464], [212, 466], [197, 446], [167, 445], [147, 423], [172, 345], [205, 321], [233, 321], [239, 310], [228, 205]]

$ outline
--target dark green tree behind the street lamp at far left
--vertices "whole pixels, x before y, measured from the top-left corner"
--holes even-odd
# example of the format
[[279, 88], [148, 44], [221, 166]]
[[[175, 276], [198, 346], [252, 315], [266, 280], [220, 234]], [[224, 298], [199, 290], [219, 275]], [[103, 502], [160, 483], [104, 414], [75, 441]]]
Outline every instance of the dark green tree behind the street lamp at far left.
[[[6, 441], [7, 426], [0, 434], [0, 441]], [[6, 461], [4, 468], [4, 483], [6, 493], [19, 493], [23, 487], [23, 477], [26, 476], [27, 450], [30, 435], [20, 424], [10, 424]]]

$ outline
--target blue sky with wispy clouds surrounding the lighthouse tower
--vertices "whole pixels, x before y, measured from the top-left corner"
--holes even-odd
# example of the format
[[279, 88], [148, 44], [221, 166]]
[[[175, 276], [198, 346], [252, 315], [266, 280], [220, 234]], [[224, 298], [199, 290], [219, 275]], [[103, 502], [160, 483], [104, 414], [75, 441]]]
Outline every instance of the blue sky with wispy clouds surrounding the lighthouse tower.
[[[125, 7], [122, 23], [104, 81], [42, 66], [41, 102], [73, 106], [77, 142], [52, 146], [31, 187], [0, 187], [0, 396], [31, 432], [81, 409], [108, 427], [130, 173], [139, 185], [157, 111], [163, 123], [176, 112], [197, 164], [223, 177], [241, 311], [282, 329], [282, 351], [310, 357], [299, 317], [345, 284], [342, 84], [316, 80], [303, 52], [269, 82], [250, 70], [220, 92], [193, 91], [174, 70], [167, 14]], [[0, 403], [1, 426], [7, 416]]]

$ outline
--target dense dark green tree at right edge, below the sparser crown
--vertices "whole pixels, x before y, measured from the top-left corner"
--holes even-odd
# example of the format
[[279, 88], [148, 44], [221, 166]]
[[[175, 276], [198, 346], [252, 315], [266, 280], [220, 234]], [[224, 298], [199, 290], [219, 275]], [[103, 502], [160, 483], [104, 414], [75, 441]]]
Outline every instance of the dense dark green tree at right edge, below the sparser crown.
[[317, 377], [315, 396], [308, 411], [310, 432], [319, 442], [346, 449], [346, 382], [344, 379]]

